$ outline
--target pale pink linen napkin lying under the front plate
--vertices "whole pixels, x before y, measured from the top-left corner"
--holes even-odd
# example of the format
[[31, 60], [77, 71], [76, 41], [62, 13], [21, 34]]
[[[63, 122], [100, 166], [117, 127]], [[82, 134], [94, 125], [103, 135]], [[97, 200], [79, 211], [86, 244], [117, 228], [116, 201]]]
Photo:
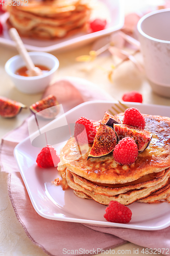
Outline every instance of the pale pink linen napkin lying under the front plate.
[[[85, 84], [86, 83], [88, 84], [88, 81], [86, 81]], [[79, 100], [87, 101], [88, 99], [95, 99], [95, 89], [92, 88], [92, 90], [90, 90], [85, 84], [82, 87], [82, 84], [83, 81], [81, 83], [80, 80], [74, 81], [74, 79], [72, 79], [70, 81], [67, 79], [58, 81], [57, 88], [59, 89], [60, 86], [62, 86], [62, 88], [65, 87], [67, 88], [67, 92], [69, 88], [70, 95], [72, 87], [74, 89], [80, 88], [76, 96], [77, 102], [79, 102]], [[90, 84], [90, 87], [92, 87], [92, 84]], [[48, 88], [48, 93], [50, 93], [51, 89], [52, 88]], [[107, 97], [107, 94], [103, 94], [100, 90], [98, 90], [97, 95], [97, 99], [110, 100], [110, 96]], [[80, 96], [79, 100], [78, 96]], [[63, 97], [64, 98], [60, 95], [59, 103], [62, 103], [63, 107], [66, 109], [68, 108], [68, 102], [65, 101], [65, 92]], [[67, 97], [67, 100], [68, 99], [69, 97]], [[73, 102], [74, 100], [71, 103], [72, 105], [75, 104]], [[41, 247], [48, 255], [60, 256], [63, 255], [67, 249], [72, 250], [72, 255], [96, 254], [97, 252], [101, 252], [101, 249], [107, 250], [114, 248], [125, 244], [127, 241], [152, 249], [170, 248], [170, 227], [158, 231], [144, 231], [53, 221], [39, 216], [31, 204], [27, 189], [23, 184], [13, 156], [13, 150], [16, 144], [27, 136], [28, 127], [26, 120], [20, 127], [3, 138], [0, 151], [1, 169], [9, 173], [9, 197], [20, 224], [31, 241]], [[165, 255], [166, 252], [167, 250], [164, 250]]]

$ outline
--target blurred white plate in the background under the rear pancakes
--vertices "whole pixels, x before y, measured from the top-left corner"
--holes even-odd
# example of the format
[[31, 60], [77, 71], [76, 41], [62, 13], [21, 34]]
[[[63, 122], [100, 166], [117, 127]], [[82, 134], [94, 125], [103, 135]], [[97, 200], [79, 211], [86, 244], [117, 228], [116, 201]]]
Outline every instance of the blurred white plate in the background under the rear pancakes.
[[[111, 20], [104, 30], [89, 34], [78, 33], [74, 36], [58, 40], [36, 40], [30, 38], [22, 38], [27, 50], [41, 52], [52, 52], [58, 50], [60, 50], [61, 52], [61, 50], [70, 50], [73, 48], [89, 44], [98, 37], [109, 35], [110, 33], [121, 29], [124, 25], [123, 0], [99, 1], [104, 3], [106, 8], [110, 12]], [[4, 33], [0, 36], [0, 45], [15, 47], [15, 43], [11, 40], [8, 34], [7, 26], [5, 24], [7, 18], [8, 13], [5, 13], [0, 17], [0, 20], [4, 25]]]

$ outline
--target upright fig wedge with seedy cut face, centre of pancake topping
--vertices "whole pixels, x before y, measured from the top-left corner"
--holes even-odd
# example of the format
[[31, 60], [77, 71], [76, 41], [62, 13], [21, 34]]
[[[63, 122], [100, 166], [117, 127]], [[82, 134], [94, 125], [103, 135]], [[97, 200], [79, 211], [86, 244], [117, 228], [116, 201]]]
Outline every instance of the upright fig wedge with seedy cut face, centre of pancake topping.
[[91, 151], [87, 160], [90, 157], [102, 157], [113, 151], [117, 142], [116, 134], [112, 127], [101, 123], [96, 132]]

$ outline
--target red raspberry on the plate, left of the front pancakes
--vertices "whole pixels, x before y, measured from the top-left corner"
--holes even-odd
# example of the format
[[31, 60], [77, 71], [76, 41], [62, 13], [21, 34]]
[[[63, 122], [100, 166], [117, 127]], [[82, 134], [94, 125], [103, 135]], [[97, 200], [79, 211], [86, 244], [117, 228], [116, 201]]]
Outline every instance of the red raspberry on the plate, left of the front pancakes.
[[36, 160], [38, 166], [42, 168], [54, 167], [59, 161], [60, 158], [57, 155], [55, 148], [51, 145], [43, 147]]

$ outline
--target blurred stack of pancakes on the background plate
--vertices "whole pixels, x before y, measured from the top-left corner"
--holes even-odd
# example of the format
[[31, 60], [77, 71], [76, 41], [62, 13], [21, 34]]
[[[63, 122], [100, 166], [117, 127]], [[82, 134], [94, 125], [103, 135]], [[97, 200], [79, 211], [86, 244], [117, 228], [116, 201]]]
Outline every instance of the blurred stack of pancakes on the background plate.
[[[87, 29], [90, 0], [29, 0], [7, 6], [9, 27], [21, 36], [54, 39]], [[28, 4], [27, 4], [27, 3]]]

